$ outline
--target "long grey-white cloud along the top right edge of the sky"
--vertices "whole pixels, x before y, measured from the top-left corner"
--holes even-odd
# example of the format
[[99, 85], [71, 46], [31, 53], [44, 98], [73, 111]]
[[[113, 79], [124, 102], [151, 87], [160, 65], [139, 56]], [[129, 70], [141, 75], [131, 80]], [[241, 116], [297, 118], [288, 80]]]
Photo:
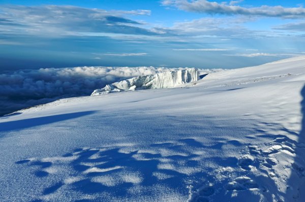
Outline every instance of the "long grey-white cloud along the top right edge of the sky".
[[261, 6], [246, 8], [236, 6], [240, 1], [231, 1], [217, 3], [206, 0], [164, 0], [164, 6], [173, 6], [180, 10], [189, 12], [207, 13], [207, 14], [223, 14], [223, 15], [247, 15], [247, 16], [265, 16], [265, 17], [281, 17], [281, 18], [302, 18], [305, 16], [305, 9], [302, 7], [285, 8], [282, 6]]

